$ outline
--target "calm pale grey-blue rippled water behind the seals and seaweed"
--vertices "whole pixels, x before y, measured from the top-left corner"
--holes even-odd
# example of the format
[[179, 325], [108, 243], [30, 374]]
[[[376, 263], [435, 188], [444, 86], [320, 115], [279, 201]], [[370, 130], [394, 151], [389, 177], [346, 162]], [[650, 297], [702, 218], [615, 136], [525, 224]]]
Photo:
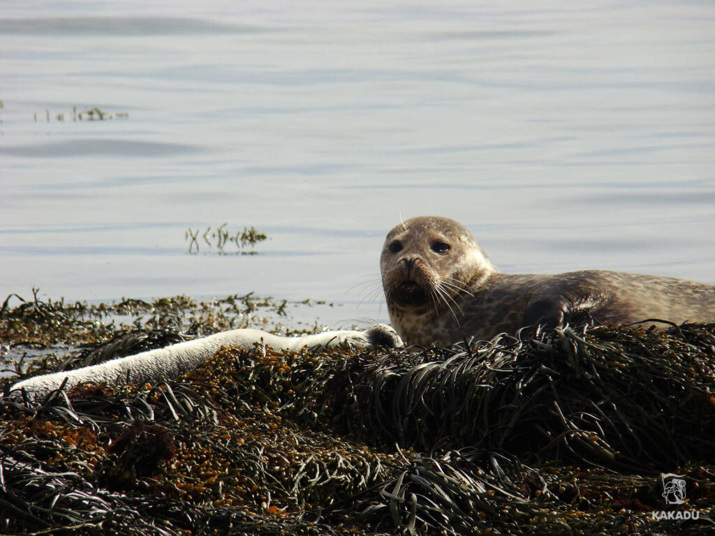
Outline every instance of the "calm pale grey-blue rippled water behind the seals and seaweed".
[[[715, 283], [709, 0], [4, 0], [0, 99], [0, 299], [254, 291], [385, 320], [360, 301], [420, 214], [505, 272]], [[223, 222], [271, 239], [187, 254]]]

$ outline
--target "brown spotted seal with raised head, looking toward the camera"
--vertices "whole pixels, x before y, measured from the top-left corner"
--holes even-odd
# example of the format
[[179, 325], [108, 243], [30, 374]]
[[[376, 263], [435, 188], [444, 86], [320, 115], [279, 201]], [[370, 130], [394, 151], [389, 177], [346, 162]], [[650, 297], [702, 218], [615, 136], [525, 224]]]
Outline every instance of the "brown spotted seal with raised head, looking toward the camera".
[[603, 270], [503, 274], [453, 219], [408, 219], [388, 232], [380, 256], [393, 327], [408, 344], [446, 346], [538, 325], [589, 320], [668, 327], [715, 322], [715, 286]]

